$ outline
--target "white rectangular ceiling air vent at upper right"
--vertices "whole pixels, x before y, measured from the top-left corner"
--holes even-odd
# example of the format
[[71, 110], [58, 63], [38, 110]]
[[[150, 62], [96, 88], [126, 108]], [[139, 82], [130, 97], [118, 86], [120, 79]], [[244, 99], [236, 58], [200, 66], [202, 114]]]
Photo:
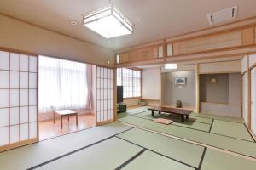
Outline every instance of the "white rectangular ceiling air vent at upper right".
[[237, 17], [238, 6], [225, 8], [224, 10], [218, 11], [213, 14], [207, 14], [210, 25], [218, 24], [227, 20], [233, 20]]

